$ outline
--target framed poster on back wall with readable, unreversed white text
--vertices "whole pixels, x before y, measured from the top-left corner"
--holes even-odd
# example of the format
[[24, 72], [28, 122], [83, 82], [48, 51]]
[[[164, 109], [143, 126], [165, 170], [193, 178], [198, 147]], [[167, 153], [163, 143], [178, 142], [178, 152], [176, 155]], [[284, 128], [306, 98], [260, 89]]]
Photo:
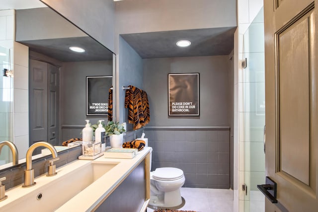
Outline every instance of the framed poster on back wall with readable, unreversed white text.
[[199, 73], [169, 73], [169, 116], [199, 116]]

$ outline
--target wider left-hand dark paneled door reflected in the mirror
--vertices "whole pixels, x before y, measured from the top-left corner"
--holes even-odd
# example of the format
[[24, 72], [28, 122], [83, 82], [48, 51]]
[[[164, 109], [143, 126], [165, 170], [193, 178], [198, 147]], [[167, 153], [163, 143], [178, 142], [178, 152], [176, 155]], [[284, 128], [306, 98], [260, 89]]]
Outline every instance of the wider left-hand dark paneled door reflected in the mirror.
[[38, 141], [47, 141], [47, 63], [29, 61], [29, 126], [32, 145]]

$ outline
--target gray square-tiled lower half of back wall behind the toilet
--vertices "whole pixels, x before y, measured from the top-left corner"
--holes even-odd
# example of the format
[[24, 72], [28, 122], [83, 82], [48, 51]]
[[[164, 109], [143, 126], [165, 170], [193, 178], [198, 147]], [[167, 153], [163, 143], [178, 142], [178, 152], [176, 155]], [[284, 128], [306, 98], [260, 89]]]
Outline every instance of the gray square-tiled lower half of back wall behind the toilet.
[[176, 167], [185, 175], [184, 187], [230, 188], [230, 130], [145, 128], [153, 147], [152, 170]]

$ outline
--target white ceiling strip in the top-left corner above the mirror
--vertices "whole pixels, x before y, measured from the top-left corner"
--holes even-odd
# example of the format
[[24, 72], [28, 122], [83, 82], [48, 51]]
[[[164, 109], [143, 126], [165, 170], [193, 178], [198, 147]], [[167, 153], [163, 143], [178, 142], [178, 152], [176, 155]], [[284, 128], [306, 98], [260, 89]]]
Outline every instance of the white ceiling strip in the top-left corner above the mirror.
[[40, 0], [0, 0], [1, 9], [29, 9], [46, 7]]

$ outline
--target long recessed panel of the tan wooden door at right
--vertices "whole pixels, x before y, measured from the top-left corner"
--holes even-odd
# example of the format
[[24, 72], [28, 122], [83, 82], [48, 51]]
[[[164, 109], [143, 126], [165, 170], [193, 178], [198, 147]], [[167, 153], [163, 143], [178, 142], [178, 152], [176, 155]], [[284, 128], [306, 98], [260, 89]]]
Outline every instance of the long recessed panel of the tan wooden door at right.
[[280, 171], [307, 185], [310, 141], [308, 26], [313, 18], [312, 11], [276, 34]]

